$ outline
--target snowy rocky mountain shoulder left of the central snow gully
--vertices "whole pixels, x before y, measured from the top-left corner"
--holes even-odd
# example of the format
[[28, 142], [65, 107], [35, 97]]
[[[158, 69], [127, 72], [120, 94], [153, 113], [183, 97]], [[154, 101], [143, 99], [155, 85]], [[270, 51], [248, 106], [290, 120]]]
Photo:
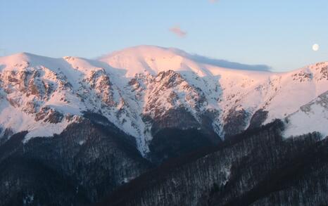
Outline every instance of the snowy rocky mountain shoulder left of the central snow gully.
[[25, 140], [52, 136], [76, 122], [82, 112], [91, 111], [106, 115], [128, 134], [138, 136], [139, 128], [132, 125], [136, 124], [133, 121], [141, 121], [141, 117], [131, 114], [124, 94], [120, 94], [120, 84], [111, 83], [115, 75], [110, 78], [108, 67], [97, 67], [90, 62], [29, 53], [0, 58], [3, 132], [27, 130]]

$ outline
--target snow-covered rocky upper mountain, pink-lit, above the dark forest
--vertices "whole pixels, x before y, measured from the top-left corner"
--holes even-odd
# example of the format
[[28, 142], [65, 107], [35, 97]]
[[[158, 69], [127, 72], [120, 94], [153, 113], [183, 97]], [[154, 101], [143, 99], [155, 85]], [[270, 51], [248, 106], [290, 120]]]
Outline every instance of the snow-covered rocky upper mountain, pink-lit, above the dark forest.
[[0, 136], [25, 130], [25, 141], [52, 136], [80, 122], [84, 112], [99, 113], [134, 136], [142, 154], [165, 128], [196, 128], [223, 139], [286, 118], [286, 137], [328, 134], [327, 62], [277, 73], [203, 59], [157, 46], [97, 60], [1, 57]]

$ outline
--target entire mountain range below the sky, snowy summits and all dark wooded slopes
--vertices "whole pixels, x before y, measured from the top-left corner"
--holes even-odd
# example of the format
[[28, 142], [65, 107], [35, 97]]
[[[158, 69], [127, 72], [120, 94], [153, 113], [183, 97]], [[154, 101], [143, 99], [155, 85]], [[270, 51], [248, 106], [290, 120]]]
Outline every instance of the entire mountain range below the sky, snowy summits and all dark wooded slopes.
[[0, 58], [0, 205], [327, 203], [327, 62], [130, 50]]

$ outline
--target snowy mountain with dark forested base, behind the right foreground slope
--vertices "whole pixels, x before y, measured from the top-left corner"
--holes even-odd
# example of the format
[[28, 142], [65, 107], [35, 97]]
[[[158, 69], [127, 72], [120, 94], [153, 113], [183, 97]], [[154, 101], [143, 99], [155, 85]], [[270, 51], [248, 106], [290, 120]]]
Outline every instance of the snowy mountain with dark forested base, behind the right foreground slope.
[[[88, 205], [163, 162], [189, 153], [201, 161], [204, 153], [198, 150], [236, 143], [239, 134], [244, 134], [241, 143], [253, 145], [266, 129], [273, 132], [270, 122], [276, 119], [283, 129], [273, 134], [282, 145], [284, 139], [310, 134], [322, 143], [328, 135], [327, 92], [328, 62], [270, 72], [265, 65], [158, 46], [132, 47], [96, 60], [31, 53], [0, 57], [0, 174], [7, 182], [0, 186], [0, 198], [3, 205], [18, 205], [15, 200]], [[248, 132], [258, 128], [260, 134], [250, 137]], [[240, 158], [263, 155], [246, 155], [266, 143], [255, 144], [254, 150], [239, 151]], [[308, 146], [305, 141], [297, 148], [302, 144]], [[267, 172], [296, 161], [288, 155], [306, 154], [284, 153], [289, 147], [294, 144], [277, 147], [282, 162], [272, 162], [277, 167]], [[45, 186], [66, 189], [42, 193]]]

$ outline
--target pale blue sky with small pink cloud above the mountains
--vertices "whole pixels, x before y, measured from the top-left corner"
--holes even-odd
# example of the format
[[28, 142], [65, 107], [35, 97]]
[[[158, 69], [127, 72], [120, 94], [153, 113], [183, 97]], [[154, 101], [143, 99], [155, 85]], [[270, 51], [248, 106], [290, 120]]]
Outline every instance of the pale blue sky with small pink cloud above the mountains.
[[287, 71], [328, 60], [327, 11], [327, 0], [0, 0], [0, 56], [146, 44]]

